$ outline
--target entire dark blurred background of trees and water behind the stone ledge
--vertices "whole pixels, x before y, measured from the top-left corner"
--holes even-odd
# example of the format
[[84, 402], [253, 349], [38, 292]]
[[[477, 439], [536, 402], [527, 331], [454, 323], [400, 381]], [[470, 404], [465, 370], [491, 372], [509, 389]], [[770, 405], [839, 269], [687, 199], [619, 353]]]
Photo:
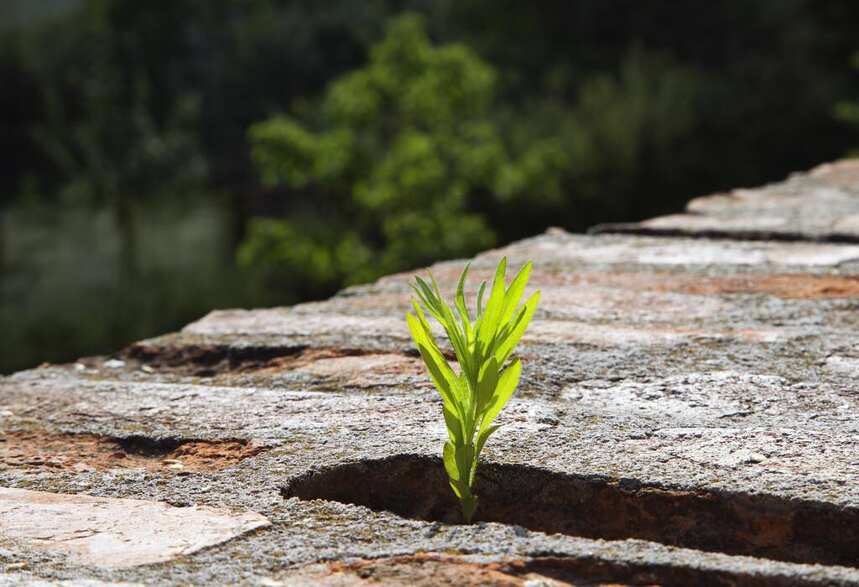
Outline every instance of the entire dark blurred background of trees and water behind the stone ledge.
[[0, 0], [0, 373], [859, 146], [855, 0]]

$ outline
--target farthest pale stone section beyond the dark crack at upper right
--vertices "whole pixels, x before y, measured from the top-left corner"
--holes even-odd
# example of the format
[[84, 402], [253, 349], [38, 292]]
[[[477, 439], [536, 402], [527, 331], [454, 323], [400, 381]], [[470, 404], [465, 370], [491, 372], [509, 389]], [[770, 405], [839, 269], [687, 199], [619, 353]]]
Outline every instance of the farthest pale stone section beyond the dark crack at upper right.
[[592, 232], [857, 243], [859, 159], [821, 165], [784, 183], [696, 198], [685, 214]]

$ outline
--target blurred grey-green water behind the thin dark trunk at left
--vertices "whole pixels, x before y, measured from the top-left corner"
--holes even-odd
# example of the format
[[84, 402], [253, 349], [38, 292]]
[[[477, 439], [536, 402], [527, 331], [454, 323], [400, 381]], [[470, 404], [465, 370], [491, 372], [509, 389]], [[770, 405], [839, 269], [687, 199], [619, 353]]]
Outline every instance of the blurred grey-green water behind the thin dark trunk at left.
[[0, 217], [0, 373], [118, 350], [210, 308], [253, 305], [230, 208], [213, 194], [134, 211], [135, 267], [113, 214], [19, 203]]

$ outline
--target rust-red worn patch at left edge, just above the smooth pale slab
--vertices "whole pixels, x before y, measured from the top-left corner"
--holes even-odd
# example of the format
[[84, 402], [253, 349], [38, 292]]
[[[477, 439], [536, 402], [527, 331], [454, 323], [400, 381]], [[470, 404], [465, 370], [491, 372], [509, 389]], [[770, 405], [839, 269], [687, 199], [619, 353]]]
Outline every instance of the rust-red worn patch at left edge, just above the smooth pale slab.
[[92, 434], [43, 431], [0, 435], [0, 470], [146, 469], [205, 473], [235, 465], [262, 451], [244, 440], [141, 443]]

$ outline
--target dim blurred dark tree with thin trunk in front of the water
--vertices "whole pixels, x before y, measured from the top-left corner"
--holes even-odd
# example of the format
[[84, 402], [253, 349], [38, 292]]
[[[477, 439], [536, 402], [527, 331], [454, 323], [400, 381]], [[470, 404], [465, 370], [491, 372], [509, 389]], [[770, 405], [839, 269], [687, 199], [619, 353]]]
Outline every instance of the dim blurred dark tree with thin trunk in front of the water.
[[163, 68], [181, 51], [182, 16], [93, 2], [24, 48], [32, 55], [28, 73], [42, 90], [43, 118], [32, 136], [62, 178], [58, 197], [113, 211], [120, 275], [127, 277], [138, 273], [139, 201], [199, 189], [206, 178], [198, 97], [170, 88]]

